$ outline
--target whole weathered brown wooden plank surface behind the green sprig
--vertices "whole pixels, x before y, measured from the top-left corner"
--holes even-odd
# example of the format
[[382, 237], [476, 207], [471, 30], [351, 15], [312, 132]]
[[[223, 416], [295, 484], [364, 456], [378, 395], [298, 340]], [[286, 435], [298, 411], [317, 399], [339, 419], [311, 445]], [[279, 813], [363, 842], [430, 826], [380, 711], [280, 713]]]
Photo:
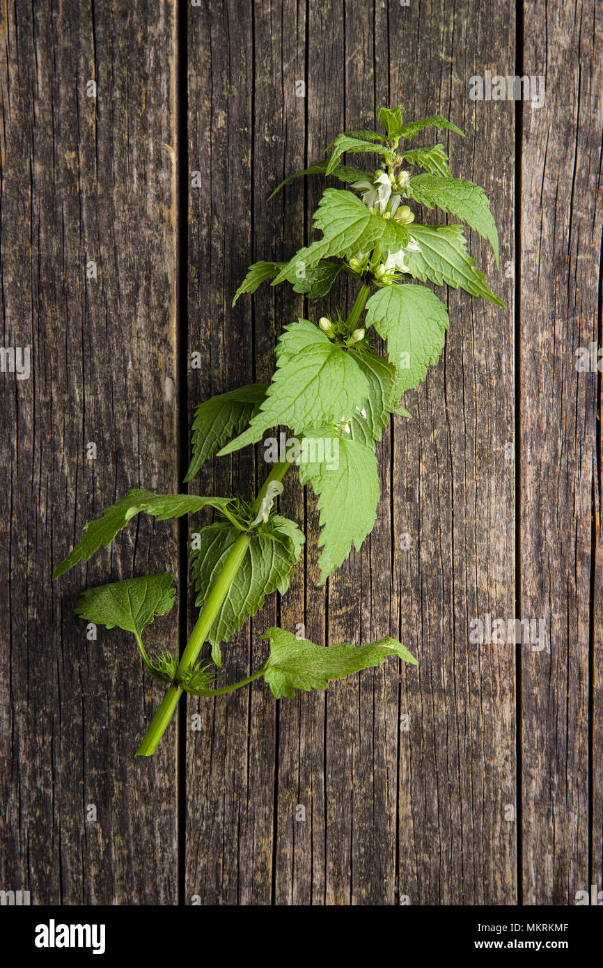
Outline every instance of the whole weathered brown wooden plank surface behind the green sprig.
[[[561, 0], [2, 6], [3, 345], [31, 367], [0, 376], [0, 888], [35, 904], [601, 889], [602, 28], [599, 8]], [[488, 71], [543, 77], [544, 102], [471, 100]], [[491, 198], [500, 270], [472, 248], [506, 309], [449, 293], [442, 361], [380, 446], [377, 527], [326, 592], [314, 499], [286, 483], [305, 563], [227, 649], [234, 681], [268, 624], [303, 622], [319, 643], [400, 633], [418, 669], [280, 704], [257, 683], [189, 697], [135, 759], [162, 689], [123, 633], [88, 641], [73, 606], [149, 568], [186, 592], [186, 526], [140, 520], [54, 585], [53, 565], [129, 487], [181, 489], [196, 403], [269, 378], [282, 325], [314, 309], [285, 287], [230, 301], [252, 260], [308, 236], [319, 189], [266, 196], [401, 102], [467, 132], [444, 140]], [[243, 451], [195, 487], [249, 495], [264, 474]], [[185, 612], [150, 643], [182, 639]], [[470, 641], [487, 615], [545, 634]]]

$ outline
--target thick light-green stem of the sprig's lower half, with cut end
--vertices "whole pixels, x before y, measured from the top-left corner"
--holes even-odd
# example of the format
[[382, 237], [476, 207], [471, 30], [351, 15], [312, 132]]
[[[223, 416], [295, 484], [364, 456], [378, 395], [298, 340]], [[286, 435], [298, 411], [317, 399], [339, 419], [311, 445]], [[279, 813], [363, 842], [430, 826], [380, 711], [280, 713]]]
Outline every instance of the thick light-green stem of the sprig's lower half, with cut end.
[[[290, 466], [290, 461], [279, 461], [278, 464], [275, 464], [273, 469], [266, 477], [266, 480], [264, 481], [256, 497], [254, 502], [254, 511], [259, 510], [259, 506], [266, 494], [268, 485], [273, 481], [283, 480], [286, 471], [290, 468]], [[186, 649], [182, 653], [182, 658], [180, 659], [180, 663], [176, 671], [176, 680], [180, 678], [186, 669], [193, 668], [196, 657], [202, 649], [207, 636], [209, 635], [209, 630], [211, 629], [214, 620], [222, 607], [222, 603], [226, 598], [228, 590], [234, 581], [236, 573], [239, 570], [245, 555], [247, 554], [247, 549], [249, 548], [251, 539], [252, 534], [245, 531], [233, 544], [230, 554], [223, 565], [222, 571], [218, 575], [211, 591], [209, 592], [209, 595], [207, 596], [205, 604], [200, 611], [199, 617], [195, 623], [195, 627], [191, 632], [191, 638], [187, 642]], [[238, 688], [241, 685], [246, 685], [248, 681], [253, 681], [259, 675], [261, 675], [261, 672], [256, 673], [249, 680], [238, 682], [233, 686], [226, 686], [224, 689], [217, 689], [215, 692], [212, 691], [209, 694], [219, 695], [223, 692], [230, 692], [234, 688]], [[169, 720], [171, 719], [176, 706], [178, 705], [178, 700], [180, 699], [183, 691], [183, 686], [180, 685], [179, 682], [174, 682], [172, 685], [170, 685], [166, 695], [164, 696], [162, 705], [153, 716], [151, 725], [147, 729], [144, 739], [136, 750], [136, 756], [153, 755], [159, 745], [160, 740], [166, 732], [167, 724], [169, 723]]]

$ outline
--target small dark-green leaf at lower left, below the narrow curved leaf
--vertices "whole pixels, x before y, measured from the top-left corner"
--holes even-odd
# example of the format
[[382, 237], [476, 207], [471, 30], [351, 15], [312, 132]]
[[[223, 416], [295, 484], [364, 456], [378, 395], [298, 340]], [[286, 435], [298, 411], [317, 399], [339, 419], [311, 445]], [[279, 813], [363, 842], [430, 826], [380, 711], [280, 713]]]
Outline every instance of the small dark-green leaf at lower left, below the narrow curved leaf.
[[96, 625], [140, 636], [156, 615], [166, 615], [174, 603], [175, 589], [169, 572], [127, 578], [83, 591], [75, 603], [75, 615]]

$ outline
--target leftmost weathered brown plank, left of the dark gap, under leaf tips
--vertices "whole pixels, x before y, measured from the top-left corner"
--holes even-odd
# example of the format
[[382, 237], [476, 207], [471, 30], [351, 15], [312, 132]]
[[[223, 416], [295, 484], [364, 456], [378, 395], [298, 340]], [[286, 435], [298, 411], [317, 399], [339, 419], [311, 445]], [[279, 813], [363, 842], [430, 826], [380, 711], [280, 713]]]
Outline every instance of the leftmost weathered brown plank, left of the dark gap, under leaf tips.
[[124, 633], [87, 641], [73, 607], [86, 585], [174, 565], [174, 532], [141, 521], [50, 575], [129, 487], [175, 484], [173, 5], [5, 4], [1, 29], [3, 346], [31, 348], [31, 375], [1, 377], [0, 883], [32, 904], [170, 904], [175, 732], [134, 755], [162, 690]]

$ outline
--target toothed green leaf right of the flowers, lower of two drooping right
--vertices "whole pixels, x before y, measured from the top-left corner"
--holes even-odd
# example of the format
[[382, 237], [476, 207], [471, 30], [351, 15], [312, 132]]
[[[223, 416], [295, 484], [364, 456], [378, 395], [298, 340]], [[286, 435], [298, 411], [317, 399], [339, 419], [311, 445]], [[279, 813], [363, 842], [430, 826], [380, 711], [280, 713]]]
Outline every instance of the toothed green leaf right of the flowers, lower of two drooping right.
[[475, 268], [475, 259], [467, 253], [467, 239], [463, 226], [412, 226], [412, 237], [421, 247], [420, 253], [405, 252], [411, 276], [437, 286], [446, 283], [453, 289], [461, 287], [472, 296], [489, 299], [504, 306], [502, 299], [488, 288], [483, 272]]

